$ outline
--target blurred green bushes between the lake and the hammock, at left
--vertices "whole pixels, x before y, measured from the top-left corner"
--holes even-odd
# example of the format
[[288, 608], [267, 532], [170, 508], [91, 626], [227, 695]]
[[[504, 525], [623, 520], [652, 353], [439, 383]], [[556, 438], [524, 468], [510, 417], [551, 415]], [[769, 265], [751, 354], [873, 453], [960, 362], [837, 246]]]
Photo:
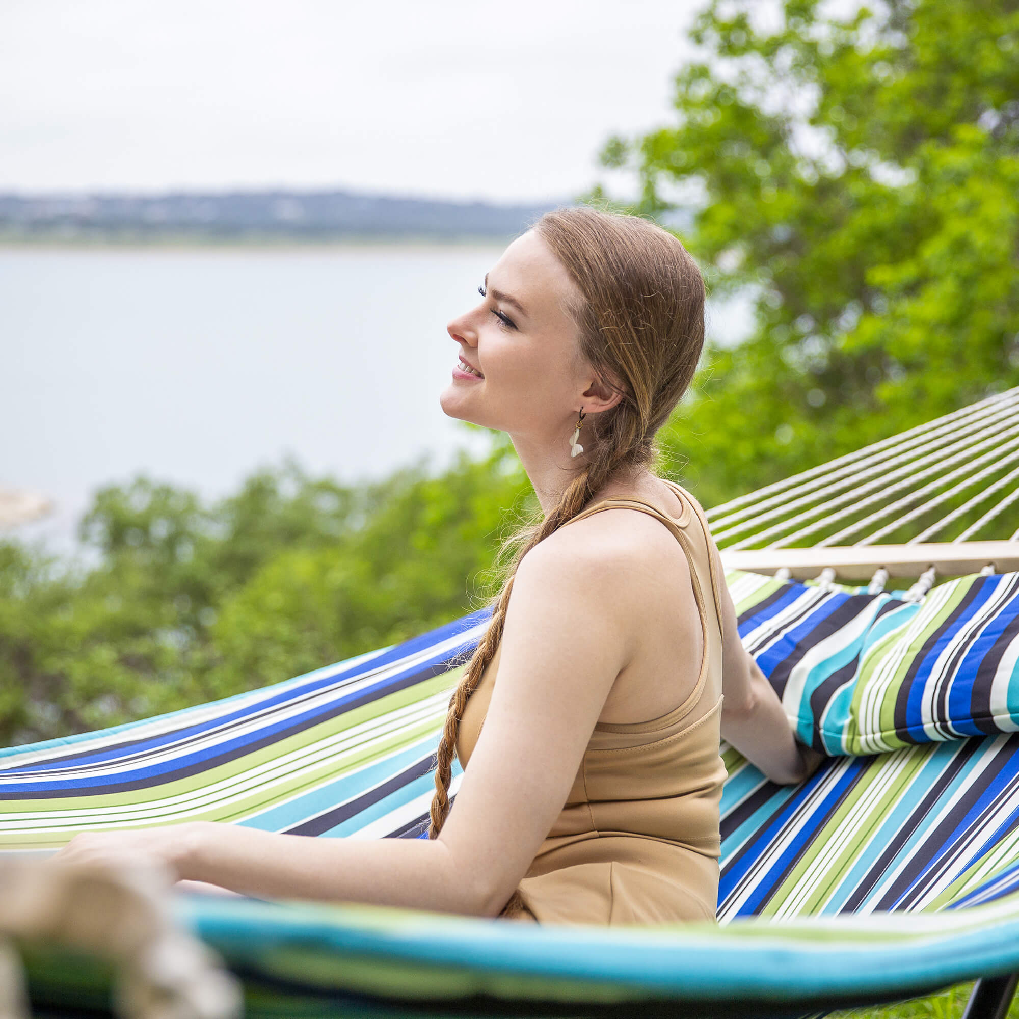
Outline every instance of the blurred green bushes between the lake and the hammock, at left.
[[483, 603], [502, 530], [534, 512], [504, 446], [344, 487], [296, 465], [207, 506], [139, 477], [100, 491], [76, 569], [0, 542], [0, 745], [254, 689]]

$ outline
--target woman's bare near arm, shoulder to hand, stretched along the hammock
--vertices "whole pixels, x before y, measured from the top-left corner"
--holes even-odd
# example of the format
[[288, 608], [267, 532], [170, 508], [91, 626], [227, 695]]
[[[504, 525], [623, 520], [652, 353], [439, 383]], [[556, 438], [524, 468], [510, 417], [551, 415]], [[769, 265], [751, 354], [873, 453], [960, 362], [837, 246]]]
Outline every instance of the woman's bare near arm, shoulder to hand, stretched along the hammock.
[[488, 717], [438, 839], [313, 839], [197, 822], [82, 835], [58, 858], [145, 856], [181, 878], [253, 896], [496, 915], [562, 809], [628, 660], [626, 613], [638, 602], [629, 552], [595, 554], [580, 538], [564, 532], [520, 565]]

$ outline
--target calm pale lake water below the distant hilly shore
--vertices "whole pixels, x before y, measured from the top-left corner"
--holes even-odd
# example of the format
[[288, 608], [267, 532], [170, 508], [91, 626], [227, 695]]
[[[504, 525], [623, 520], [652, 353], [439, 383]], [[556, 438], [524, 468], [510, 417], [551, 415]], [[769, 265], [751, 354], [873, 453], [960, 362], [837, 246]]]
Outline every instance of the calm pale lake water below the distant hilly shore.
[[[216, 496], [284, 455], [354, 481], [480, 450], [438, 405], [445, 324], [500, 250], [0, 250], [0, 487], [56, 503], [17, 533], [69, 547], [139, 472]], [[709, 321], [734, 342], [747, 303]]]

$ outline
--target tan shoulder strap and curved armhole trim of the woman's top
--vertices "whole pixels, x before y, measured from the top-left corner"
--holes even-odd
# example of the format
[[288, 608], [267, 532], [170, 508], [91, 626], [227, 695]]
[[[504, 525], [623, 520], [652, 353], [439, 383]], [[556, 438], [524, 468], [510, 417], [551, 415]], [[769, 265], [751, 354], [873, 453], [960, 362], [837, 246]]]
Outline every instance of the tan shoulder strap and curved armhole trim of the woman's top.
[[[715, 608], [714, 623], [718, 636], [718, 647], [719, 649], [721, 647], [721, 604], [716, 587], [714, 562], [713, 557], [711, 556], [711, 539], [710, 532], [707, 530], [707, 522], [699, 512], [700, 507], [697, 506], [693, 498], [687, 494], [685, 489], [673, 482], [666, 481], [666, 484], [673, 489], [673, 491], [676, 492], [676, 495], [683, 506], [683, 513], [679, 517], [669, 517], [667, 514], [662, 513], [656, 506], [651, 505], [650, 502], [645, 502], [643, 499], [609, 498], [601, 499], [598, 502], [593, 503], [586, 509], [579, 513], [572, 520], [568, 521], [567, 524], [562, 525], [564, 527], [567, 527], [569, 524], [575, 524], [577, 521], [584, 520], [586, 517], [591, 517], [604, 509], [637, 509], [640, 513], [646, 513], [648, 516], [661, 521], [661, 523], [664, 524], [665, 527], [667, 527], [673, 533], [673, 536], [677, 539], [677, 541], [679, 541], [680, 547], [686, 555], [687, 564], [690, 568], [690, 580], [694, 590], [694, 598], [697, 602], [697, 611], [700, 615], [701, 631], [704, 637], [704, 655], [701, 662], [700, 674], [697, 677], [697, 684], [690, 692], [689, 696], [686, 697], [681, 704], [675, 707], [667, 714], [663, 714], [658, 718], [652, 718], [647, 722], [640, 722], [636, 725], [598, 722], [595, 727], [598, 730], [605, 730], [613, 733], [637, 733], [648, 729], [662, 729], [666, 726], [680, 721], [696, 706], [697, 702], [700, 700], [701, 694], [704, 691], [705, 683], [707, 682], [711, 657], [709, 652], [711, 637], [709, 632], [707, 603], [704, 598], [705, 581], [706, 585], [711, 589], [711, 594], [713, 595], [712, 600]], [[697, 526], [691, 528], [691, 525], [694, 524], [695, 520], [697, 521]], [[691, 529], [694, 530], [694, 534], [688, 534], [688, 531]]]

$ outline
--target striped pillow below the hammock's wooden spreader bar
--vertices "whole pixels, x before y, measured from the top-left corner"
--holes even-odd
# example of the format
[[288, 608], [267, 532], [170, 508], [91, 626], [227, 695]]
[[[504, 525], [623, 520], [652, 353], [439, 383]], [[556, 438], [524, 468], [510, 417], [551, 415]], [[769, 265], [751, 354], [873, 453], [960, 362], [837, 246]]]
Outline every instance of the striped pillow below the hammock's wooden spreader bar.
[[731, 571], [740, 636], [799, 738], [839, 755], [1019, 731], [1019, 574], [903, 592]]

